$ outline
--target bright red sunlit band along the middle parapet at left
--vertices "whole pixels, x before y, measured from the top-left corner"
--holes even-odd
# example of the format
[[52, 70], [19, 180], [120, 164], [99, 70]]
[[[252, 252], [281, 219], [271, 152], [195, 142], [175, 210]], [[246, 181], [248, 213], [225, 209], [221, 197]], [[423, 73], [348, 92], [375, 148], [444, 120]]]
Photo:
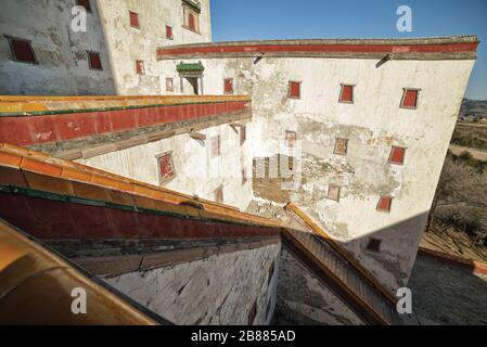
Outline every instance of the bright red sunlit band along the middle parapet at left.
[[20, 146], [106, 134], [248, 110], [246, 101], [91, 113], [0, 117], [0, 143]]

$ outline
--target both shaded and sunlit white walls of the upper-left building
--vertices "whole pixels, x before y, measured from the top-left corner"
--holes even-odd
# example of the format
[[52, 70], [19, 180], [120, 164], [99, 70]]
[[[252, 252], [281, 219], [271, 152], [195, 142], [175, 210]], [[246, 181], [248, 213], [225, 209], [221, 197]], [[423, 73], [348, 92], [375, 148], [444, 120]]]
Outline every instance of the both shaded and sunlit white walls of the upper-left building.
[[[2, 0], [0, 11], [1, 94], [158, 94], [156, 49], [209, 42], [209, 0], [201, 0], [201, 33], [182, 27], [181, 0], [90, 0], [87, 31], [71, 29], [75, 0]], [[130, 27], [129, 10], [140, 29]], [[166, 25], [174, 40], [166, 39]], [[38, 64], [13, 61], [3, 35], [31, 40]], [[89, 69], [87, 51], [100, 52], [103, 70]], [[138, 75], [136, 61], [144, 61]]]

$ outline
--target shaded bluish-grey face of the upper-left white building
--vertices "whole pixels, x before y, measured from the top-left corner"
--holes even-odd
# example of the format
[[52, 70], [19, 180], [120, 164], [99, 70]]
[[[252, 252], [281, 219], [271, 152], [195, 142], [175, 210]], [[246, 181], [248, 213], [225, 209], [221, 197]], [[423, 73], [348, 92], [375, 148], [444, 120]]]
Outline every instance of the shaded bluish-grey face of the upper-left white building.
[[[71, 30], [74, 0], [2, 0], [0, 94], [114, 94], [105, 37], [92, 5], [87, 33]], [[31, 40], [38, 64], [15, 62], [4, 36]], [[103, 70], [91, 70], [87, 51], [100, 52]]]

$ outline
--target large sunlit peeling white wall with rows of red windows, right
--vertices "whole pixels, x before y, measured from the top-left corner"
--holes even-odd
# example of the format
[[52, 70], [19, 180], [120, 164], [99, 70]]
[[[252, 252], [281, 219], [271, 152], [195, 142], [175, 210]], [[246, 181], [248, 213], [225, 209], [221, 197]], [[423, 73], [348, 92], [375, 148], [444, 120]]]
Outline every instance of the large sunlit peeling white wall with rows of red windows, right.
[[[163, 76], [178, 62], [161, 61]], [[221, 94], [223, 78], [234, 78], [235, 93], [252, 95], [254, 156], [278, 153], [285, 130], [296, 131], [303, 181], [292, 200], [383, 283], [405, 285], [474, 61], [253, 62], [202, 60], [205, 93]], [[300, 100], [287, 99], [289, 80], [303, 81]], [[338, 103], [341, 83], [356, 85], [354, 104]], [[399, 108], [402, 88], [421, 88], [418, 110]], [[349, 139], [346, 157], [333, 154], [335, 138]], [[408, 149], [403, 166], [387, 163], [392, 145]], [[342, 185], [339, 203], [326, 200], [330, 183]], [[380, 194], [394, 196], [390, 214], [376, 211]], [[380, 254], [366, 250], [369, 236], [383, 240]]]

